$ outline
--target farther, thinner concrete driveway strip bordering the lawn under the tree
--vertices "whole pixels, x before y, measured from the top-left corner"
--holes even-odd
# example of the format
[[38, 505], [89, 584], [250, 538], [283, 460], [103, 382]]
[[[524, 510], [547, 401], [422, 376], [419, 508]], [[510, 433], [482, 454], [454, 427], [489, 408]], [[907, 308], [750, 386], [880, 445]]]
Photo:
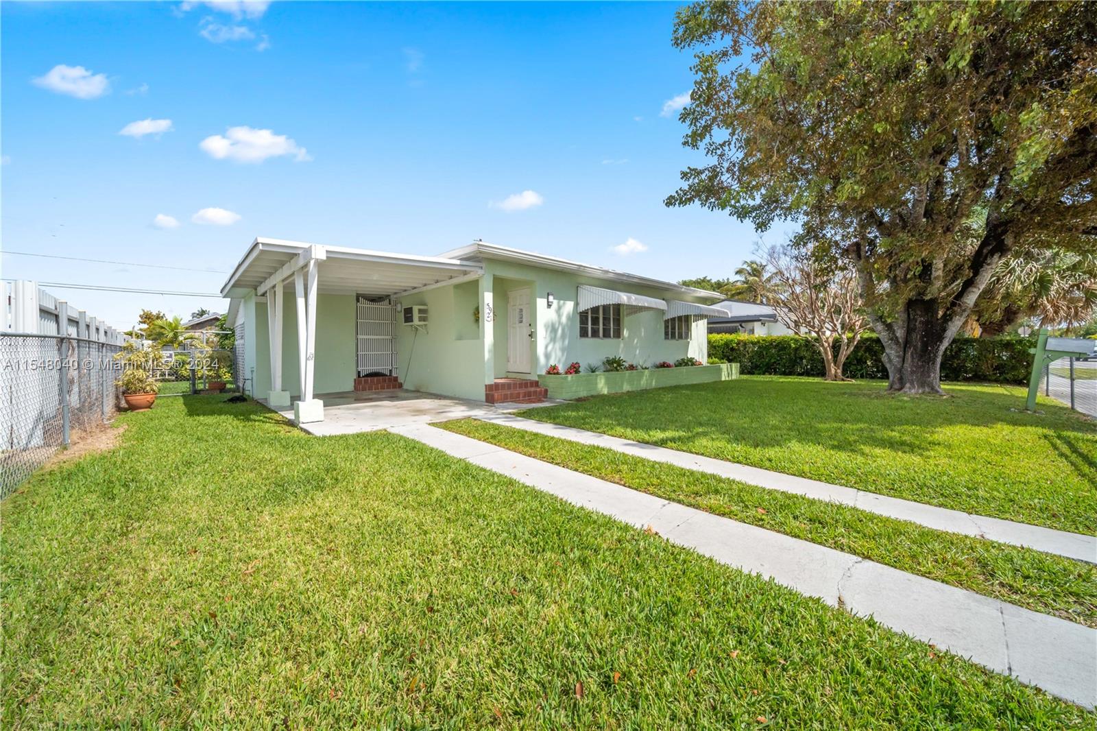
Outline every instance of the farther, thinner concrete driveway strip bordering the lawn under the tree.
[[750, 485], [766, 487], [767, 490], [777, 490], [829, 503], [849, 505], [861, 510], [867, 510], [868, 513], [898, 518], [900, 520], [908, 520], [936, 530], [947, 530], [952, 533], [986, 538], [1000, 543], [1010, 543], [1045, 553], [1055, 553], [1077, 561], [1097, 563], [1097, 537], [1094, 536], [1083, 536], [1065, 530], [1053, 530], [1024, 522], [1014, 522], [1013, 520], [1002, 520], [1000, 518], [988, 518], [960, 510], [950, 510], [924, 503], [904, 501], [898, 497], [867, 493], [852, 487], [832, 485], [826, 482], [818, 482], [817, 480], [796, 477], [771, 470], [736, 464], [735, 462], [725, 462], [724, 460], [681, 452], [675, 449], [667, 449], [666, 447], [630, 441], [595, 431], [534, 421], [533, 419], [524, 419], [509, 414], [484, 414], [476, 415], [476, 418], [550, 437], [559, 437], [561, 439], [569, 439], [596, 447], [606, 447], [624, 454], [642, 457], [656, 462], [665, 462], [686, 468], [687, 470], [708, 472], [721, 477], [730, 477]]

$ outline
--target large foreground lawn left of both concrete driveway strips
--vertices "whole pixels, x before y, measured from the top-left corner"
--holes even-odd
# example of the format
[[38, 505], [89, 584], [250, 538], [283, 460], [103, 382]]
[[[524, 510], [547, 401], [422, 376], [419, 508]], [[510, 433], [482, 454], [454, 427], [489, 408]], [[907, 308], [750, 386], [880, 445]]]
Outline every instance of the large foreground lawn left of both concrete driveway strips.
[[418, 442], [223, 401], [0, 505], [5, 728], [1097, 728]]

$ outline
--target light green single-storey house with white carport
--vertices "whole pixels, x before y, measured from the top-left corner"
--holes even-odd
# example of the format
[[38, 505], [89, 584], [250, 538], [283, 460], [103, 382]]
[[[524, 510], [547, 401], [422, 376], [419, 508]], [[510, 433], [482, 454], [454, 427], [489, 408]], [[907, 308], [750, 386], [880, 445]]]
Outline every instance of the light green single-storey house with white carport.
[[257, 238], [222, 294], [251, 393], [292, 394], [298, 421], [323, 418], [317, 393], [499, 401], [497, 379], [554, 363], [704, 362], [704, 319], [727, 315], [714, 292], [483, 241], [422, 257]]

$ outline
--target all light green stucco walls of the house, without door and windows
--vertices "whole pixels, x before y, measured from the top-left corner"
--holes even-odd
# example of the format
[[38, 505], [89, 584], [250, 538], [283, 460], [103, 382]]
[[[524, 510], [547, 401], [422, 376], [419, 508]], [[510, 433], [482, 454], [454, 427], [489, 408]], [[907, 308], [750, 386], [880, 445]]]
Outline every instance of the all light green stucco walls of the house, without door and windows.
[[[438, 286], [425, 292], [404, 295], [402, 306], [427, 305], [429, 324], [426, 328], [405, 326], [397, 318], [396, 352], [398, 375], [404, 386], [463, 398], [482, 401], [484, 385], [504, 376], [507, 371], [507, 292], [529, 286], [535, 339], [530, 341], [531, 375], [544, 373], [550, 364], [564, 369], [578, 361], [600, 363], [607, 356], [620, 356], [637, 364], [660, 360], [675, 361], [692, 356], [708, 358], [708, 333], [703, 320], [693, 326], [690, 340], [663, 339], [663, 313], [643, 312], [626, 316], [622, 338], [600, 340], [579, 338], [576, 308], [579, 284], [592, 284], [666, 297], [661, 290], [623, 285], [607, 280], [581, 278], [567, 272], [540, 269], [504, 261], [485, 261], [485, 275], [456, 285]], [[546, 305], [552, 292], [554, 304]], [[263, 301], [260, 301], [263, 300]], [[494, 319], [485, 313], [491, 305]], [[480, 310], [480, 319], [473, 310]], [[270, 381], [270, 344], [267, 327], [267, 303], [250, 294], [244, 299], [247, 369], [253, 369], [252, 389], [260, 398], [267, 396]], [[357, 375], [355, 297], [320, 294], [317, 299], [316, 381], [317, 394], [350, 391]], [[286, 290], [283, 323], [282, 387], [299, 396], [297, 374], [296, 304], [292, 288]]]

